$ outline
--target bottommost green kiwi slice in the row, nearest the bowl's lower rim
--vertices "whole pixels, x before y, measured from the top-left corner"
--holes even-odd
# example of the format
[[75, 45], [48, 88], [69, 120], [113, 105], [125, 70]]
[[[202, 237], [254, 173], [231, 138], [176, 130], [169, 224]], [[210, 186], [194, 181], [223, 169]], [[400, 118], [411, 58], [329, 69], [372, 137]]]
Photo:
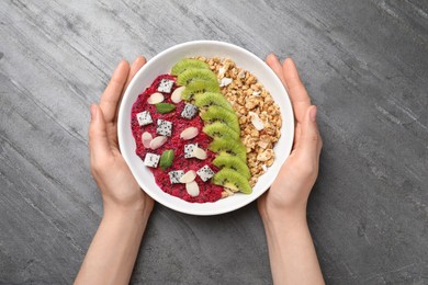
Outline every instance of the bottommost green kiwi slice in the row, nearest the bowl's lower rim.
[[252, 192], [248, 180], [239, 174], [239, 172], [228, 168], [224, 168], [215, 173], [212, 181], [216, 185], [222, 185], [234, 191], [240, 191], [245, 194], [250, 194]]

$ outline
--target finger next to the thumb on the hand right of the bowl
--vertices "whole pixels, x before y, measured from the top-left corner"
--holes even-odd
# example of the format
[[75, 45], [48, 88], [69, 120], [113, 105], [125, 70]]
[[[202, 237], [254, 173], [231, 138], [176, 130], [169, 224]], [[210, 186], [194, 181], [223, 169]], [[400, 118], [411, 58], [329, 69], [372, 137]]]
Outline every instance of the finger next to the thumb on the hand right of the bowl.
[[293, 104], [295, 118], [297, 122], [303, 122], [306, 111], [311, 106], [311, 99], [301, 81], [297, 68], [291, 58], [284, 60], [283, 77]]

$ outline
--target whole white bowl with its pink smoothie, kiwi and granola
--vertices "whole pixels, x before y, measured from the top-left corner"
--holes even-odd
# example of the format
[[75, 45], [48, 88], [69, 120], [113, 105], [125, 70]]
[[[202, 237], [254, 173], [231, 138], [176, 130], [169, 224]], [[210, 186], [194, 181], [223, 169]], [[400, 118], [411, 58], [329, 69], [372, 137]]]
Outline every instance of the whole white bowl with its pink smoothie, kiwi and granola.
[[191, 215], [238, 209], [263, 194], [290, 155], [294, 116], [275, 73], [223, 42], [176, 45], [133, 78], [119, 144], [140, 187]]

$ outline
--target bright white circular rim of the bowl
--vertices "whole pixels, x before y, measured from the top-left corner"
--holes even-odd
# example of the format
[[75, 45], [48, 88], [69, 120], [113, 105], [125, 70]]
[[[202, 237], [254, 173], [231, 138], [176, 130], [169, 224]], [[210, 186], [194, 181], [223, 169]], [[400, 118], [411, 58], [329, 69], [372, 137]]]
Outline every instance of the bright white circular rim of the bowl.
[[[232, 49], [238, 50], [239, 53], [244, 53], [246, 56], [251, 57], [254, 60], [256, 60], [260, 65], [264, 66], [266, 71], [270, 72], [269, 77], [272, 78], [272, 80], [277, 81], [274, 84], [279, 84], [280, 86], [281, 91], [283, 91], [283, 93], [286, 95], [284, 100], [286, 101], [285, 106], [288, 109], [288, 110], [281, 110], [282, 119], [284, 121], [284, 112], [290, 113], [293, 116], [293, 119], [290, 122], [290, 124], [291, 124], [290, 129], [286, 129], [286, 132], [290, 133], [290, 136], [291, 136], [292, 139], [291, 139], [291, 141], [285, 141], [285, 142], [288, 142], [288, 145], [284, 146], [284, 149], [283, 149], [283, 151], [285, 151], [285, 156], [282, 159], [282, 161], [280, 161], [280, 163], [282, 166], [283, 162], [285, 161], [285, 159], [290, 156], [290, 152], [291, 152], [292, 147], [293, 147], [293, 140], [294, 140], [295, 123], [294, 123], [294, 112], [293, 112], [293, 109], [292, 109], [292, 103], [291, 103], [290, 96], [289, 96], [289, 94], [288, 94], [283, 83], [279, 79], [279, 77], [274, 73], [274, 71], [263, 60], [261, 60], [258, 56], [256, 56], [251, 52], [249, 52], [249, 50], [247, 50], [247, 49], [245, 49], [245, 48], [243, 48], [240, 46], [237, 46], [237, 45], [234, 45], [234, 44], [230, 44], [230, 43], [226, 43], [226, 42], [221, 42], [221, 41], [202, 39], [202, 41], [191, 41], [191, 42], [177, 44], [177, 45], [173, 45], [173, 46], [171, 46], [171, 47], [160, 52], [159, 54], [154, 56], [151, 59], [147, 60], [147, 62], [137, 71], [137, 73], [131, 80], [129, 84], [126, 87], [126, 90], [123, 93], [123, 96], [121, 99], [121, 105], [120, 105], [119, 113], [117, 113], [117, 138], [119, 138], [120, 149], [121, 149], [121, 146], [124, 146], [124, 144], [125, 144], [123, 141], [124, 140], [124, 129], [121, 127], [121, 126], [123, 126], [124, 115], [126, 114], [125, 104], [123, 104], [123, 101], [126, 98], [129, 96], [129, 92], [134, 88], [134, 86], [137, 84], [137, 81], [138, 81], [140, 75], [144, 73], [146, 70], [150, 69], [150, 67], [157, 62], [157, 59], [162, 58], [165, 55], [167, 55], [167, 54], [169, 54], [169, 53], [171, 53], [171, 52], [173, 52], [176, 49], [182, 49], [182, 48], [191, 47], [191, 46], [194, 46], [194, 45], [216, 45], [216, 46], [223, 46], [223, 47], [226, 47], [226, 48], [232, 48]], [[143, 91], [140, 91], [140, 92], [143, 92]], [[133, 150], [133, 151], [135, 152], [135, 150]], [[270, 185], [269, 185], [269, 186], [266, 187], [266, 190], [262, 190], [259, 193], [251, 193], [250, 194], [251, 196], [249, 196], [248, 200], [239, 201], [239, 203], [236, 203], [234, 206], [227, 207], [226, 209], [223, 209], [223, 210], [218, 210], [217, 208], [213, 208], [212, 210], [207, 210], [207, 209], [203, 209], [203, 210], [198, 210], [196, 209], [195, 210], [195, 209], [192, 209], [192, 208], [182, 208], [182, 207], [176, 205], [174, 203], [170, 203], [168, 200], [159, 201], [159, 196], [157, 194], [155, 194], [155, 192], [151, 192], [150, 190], [148, 190], [148, 191], [145, 190], [145, 187], [142, 186], [142, 184], [144, 184], [144, 183], [140, 183], [140, 180], [139, 180], [138, 175], [136, 173], [134, 173], [134, 170], [132, 168], [132, 163], [129, 162], [131, 158], [128, 158], [127, 155], [125, 155], [125, 153], [128, 153], [128, 152], [124, 151], [124, 150], [121, 150], [121, 153], [122, 153], [126, 164], [128, 166], [131, 172], [133, 173], [133, 176], [137, 181], [138, 185], [140, 186], [140, 189], [147, 195], [149, 195], [151, 198], [154, 198], [157, 203], [159, 203], [159, 204], [161, 204], [161, 205], [164, 205], [164, 206], [166, 206], [168, 208], [171, 208], [173, 210], [177, 210], [179, 213], [183, 213], [183, 214], [196, 215], [196, 216], [212, 216], [212, 215], [226, 214], [226, 213], [236, 210], [238, 208], [241, 208], [241, 207], [252, 203], [259, 196], [261, 196], [263, 193], [269, 191], [269, 187], [270, 187]], [[281, 166], [280, 166], [280, 168], [281, 168]], [[279, 174], [279, 171], [278, 171], [278, 173], [275, 175], [278, 176], [278, 174]], [[164, 191], [162, 191], [161, 194], [169, 195], [169, 194], [165, 193]], [[179, 197], [176, 197], [176, 198], [179, 198]], [[228, 197], [228, 198], [230, 198], [230, 197]], [[179, 200], [181, 200], [181, 198], [179, 198]], [[183, 201], [183, 200], [181, 200], [181, 201]], [[187, 203], [190, 203], [190, 202], [187, 202]], [[214, 202], [214, 203], [216, 203], [216, 202]], [[195, 205], [195, 204], [196, 205], [205, 205], [206, 203], [201, 203], [201, 204], [199, 204], [199, 203], [190, 203], [190, 204], [193, 204], [193, 205]]]

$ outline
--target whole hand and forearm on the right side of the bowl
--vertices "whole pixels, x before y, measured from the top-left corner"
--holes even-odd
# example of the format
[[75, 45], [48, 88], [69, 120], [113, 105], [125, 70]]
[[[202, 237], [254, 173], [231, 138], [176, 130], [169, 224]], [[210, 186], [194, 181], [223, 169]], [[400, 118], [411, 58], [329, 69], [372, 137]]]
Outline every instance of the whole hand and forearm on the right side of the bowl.
[[306, 221], [306, 205], [318, 174], [323, 141], [316, 124], [316, 106], [304, 88], [294, 61], [283, 65], [274, 55], [267, 64], [284, 84], [295, 116], [290, 157], [270, 190], [258, 200], [274, 284], [324, 284]]

